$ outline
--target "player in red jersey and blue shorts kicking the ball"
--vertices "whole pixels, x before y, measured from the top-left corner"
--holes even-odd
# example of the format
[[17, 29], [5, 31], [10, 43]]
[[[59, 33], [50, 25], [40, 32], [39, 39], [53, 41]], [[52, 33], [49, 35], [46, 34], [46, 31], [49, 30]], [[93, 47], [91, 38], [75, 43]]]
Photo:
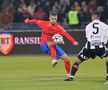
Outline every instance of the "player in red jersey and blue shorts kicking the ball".
[[56, 45], [52, 40], [52, 36], [54, 34], [60, 34], [65, 36], [68, 40], [70, 40], [73, 45], [78, 45], [78, 42], [74, 40], [64, 29], [63, 27], [57, 23], [57, 13], [52, 11], [50, 12], [49, 21], [44, 20], [29, 20], [28, 18], [25, 20], [25, 23], [36, 24], [42, 28], [41, 34], [41, 42], [40, 47], [44, 53], [51, 54], [52, 57], [52, 66], [55, 67], [57, 64], [57, 60], [61, 58], [64, 61], [65, 69], [67, 75], [70, 75], [71, 64], [67, 54], [63, 51], [61, 47]]

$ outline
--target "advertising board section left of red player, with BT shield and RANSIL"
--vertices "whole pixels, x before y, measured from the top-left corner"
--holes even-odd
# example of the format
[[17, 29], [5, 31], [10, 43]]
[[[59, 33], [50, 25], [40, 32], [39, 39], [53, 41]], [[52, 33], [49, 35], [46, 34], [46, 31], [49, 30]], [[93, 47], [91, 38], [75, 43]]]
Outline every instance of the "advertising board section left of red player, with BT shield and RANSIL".
[[0, 51], [5, 55], [37, 53], [39, 43], [39, 33], [38, 35], [33, 32], [0, 33]]

